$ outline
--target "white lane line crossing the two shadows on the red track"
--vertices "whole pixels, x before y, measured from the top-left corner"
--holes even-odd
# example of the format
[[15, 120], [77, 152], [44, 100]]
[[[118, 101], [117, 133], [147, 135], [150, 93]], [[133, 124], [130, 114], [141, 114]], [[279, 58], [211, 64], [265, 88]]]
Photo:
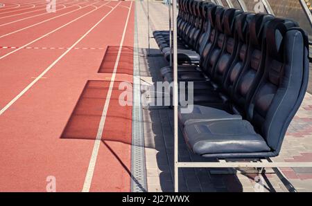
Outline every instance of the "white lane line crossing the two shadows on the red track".
[[[132, 2], [130, 4], [130, 8], [132, 8]], [[107, 115], [107, 110], [108, 110], [108, 106], [110, 104], [110, 97], [112, 96], [112, 88], [114, 86], [114, 81], [115, 81], [115, 77], [116, 77], [116, 71], [117, 71], [117, 67], [119, 65], [119, 59], [120, 59], [120, 55], [121, 55], [121, 49], [123, 46], [123, 40], [125, 39], [125, 31], [127, 30], [127, 26], [128, 26], [128, 21], [129, 21], [129, 17], [130, 17], [130, 12], [131, 9], [129, 9], [128, 11], [128, 17], [127, 20], [125, 21], [125, 27], [123, 28], [123, 35], [121, 37], [121, 42], [119, 45], [119, 50], [118, 50], [118, 54], [117, 54], [117, 58], [116, 58], [116, 62], [114, 65], [114, 71], [112, 72], [112, 77], [110, 80], [110, 88], [108, 88], [107, 91], [107, 96], [106, 96], [106, 100], [105, 100], [105, 104], [104, 104], [104, 108], [103, 108], [103, 113], [101, 115], [101, 121], [98, 125], [98, 133], [96, 135], [96, 140], [94, 141], [94, 147], [92, 150], [92, 156], [89, 162], [89, 167], [87, 170], [87, 174], [85, 176], [85, 182], [83, 184], [83, 192], [88, 192], [90, 190], [91, 187], [91, 182], [92, 182], [92, 178], [94, 175], [94, 168], [96, 165], [96, 158], [98, 157], [98, 149], [100, 148], [100, 144], [101, 144], [101, 138], [103, 135], [103, 130], [104, 130], [104, 125], [105, 125], [105, 120], [106, 120], [106, 115]]]

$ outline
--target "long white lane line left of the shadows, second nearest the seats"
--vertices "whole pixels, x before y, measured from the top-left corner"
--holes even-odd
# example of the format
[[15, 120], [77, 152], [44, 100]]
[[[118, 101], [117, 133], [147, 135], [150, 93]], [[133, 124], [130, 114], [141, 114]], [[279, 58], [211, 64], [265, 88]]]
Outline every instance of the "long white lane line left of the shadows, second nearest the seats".
[[[107, 3], [110, 3], [110, 1], [108, 1]], [[121, 1], [119, 1], [119, 3], [121, 3]], [[116, 4], [116, 6], [119, 5], [119, 3]], [[106, 4], [106, 3], [105, 3]], [[103, 6], [105, 5], [103, 4]], [[48, 68], [46, 68], [36, 79], [33, 80], [33, 82], [31, 82], [31, 84], [28, 84], [28, 86], [26, 86], [26, 88], [23, 89], [23, 91], [21, 91], [16, 97], [14, 97], [13, 100], [11, 100], [8, 104], [6, 104], [6, 106], [4, 106], [1, 110], [0, 110], [0, 115], [2, 115], [7, 109], [10, 108], [10, 106], [12, 106], [12, 104], [14, 104], [17, 100], [19, 100], [19, 98], [24, 95], [24, 93], [26, 93], [26, 91], [28, 91], [34, 84], [36, 84], [36, 82], [39, 81], [40, 78], [42, 78], [53, 66], [55, 66], [55, 64], [57, 64], [60, 59], [62, 59], [65, 55], [67, 55], [67, 53], [69, 53], [69, 51], [74, 48], [83, 38], [85, 38], [89, 32], [91, 32], [92, 30], [94, 30], [94, 28], [96, 28], [96, 26], [98, 26], [98, 24], [100, 24], [108, 15], [110, 15], [110, 13], [116, 8], [116, 6], [110, 10], [110, 12], [108, 12], [104, 17], [102, 17], [102, 19], [100, 19], [100, 21], [98, 21], [96, 24], [94, 24], [94, 26], [92, 26], [92, 28], [90, 28], [87, 32], [85, 32], [85, 34], [80, 37], [80, 39], [78, 39], [73, 45], [71, 45], [71, 47], [69, 47], [68, 50], [66, 50], [64, 53], [62, 53], [62, 55], [60, 55], [60, 57], [58, 57], [58, 59], [56, 59]]]

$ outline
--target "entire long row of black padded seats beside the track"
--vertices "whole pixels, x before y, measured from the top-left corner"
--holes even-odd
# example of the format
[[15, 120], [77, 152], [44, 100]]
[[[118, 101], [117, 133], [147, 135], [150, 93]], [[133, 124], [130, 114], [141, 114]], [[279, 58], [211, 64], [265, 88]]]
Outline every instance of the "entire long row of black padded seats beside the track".
[[[306, 93], [306, 33], [291, 19], [195, 0], [179, 1], [177, 22], [179, 52], [199, 55], [178, 66], [178, 81], [194, 86], [193, 112], [179, 112], [189, 147], [209, 158], [278, 156]], [[154, 35], [167, 48], [168, 31]], [[173, 81], [171, 67], [161, 73]]]

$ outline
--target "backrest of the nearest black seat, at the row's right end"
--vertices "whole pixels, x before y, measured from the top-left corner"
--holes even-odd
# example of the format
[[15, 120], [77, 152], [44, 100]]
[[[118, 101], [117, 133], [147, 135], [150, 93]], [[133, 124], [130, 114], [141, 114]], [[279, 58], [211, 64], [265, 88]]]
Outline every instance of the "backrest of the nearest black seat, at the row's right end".
[[252, 97], [248, 119], [277, 155], [284, 135], [306, 93], [308, 37], [297, 23], [275, 19], [268, 26], [266, 66]]

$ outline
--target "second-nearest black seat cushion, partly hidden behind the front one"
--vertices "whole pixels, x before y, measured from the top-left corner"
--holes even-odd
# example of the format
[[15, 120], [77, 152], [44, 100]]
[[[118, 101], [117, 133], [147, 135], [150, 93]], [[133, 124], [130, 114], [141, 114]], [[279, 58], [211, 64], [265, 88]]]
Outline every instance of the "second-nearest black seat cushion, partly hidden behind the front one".
[[179, 109], [178, 116], [182, 128], [184, 128], [187, 124], [193, 124], [196, 122], [242, 119], [241, 115], [232, 115], [220, 109], [201, 105], [194, 105], [192, 113], [181, 113], [181, 109]]

